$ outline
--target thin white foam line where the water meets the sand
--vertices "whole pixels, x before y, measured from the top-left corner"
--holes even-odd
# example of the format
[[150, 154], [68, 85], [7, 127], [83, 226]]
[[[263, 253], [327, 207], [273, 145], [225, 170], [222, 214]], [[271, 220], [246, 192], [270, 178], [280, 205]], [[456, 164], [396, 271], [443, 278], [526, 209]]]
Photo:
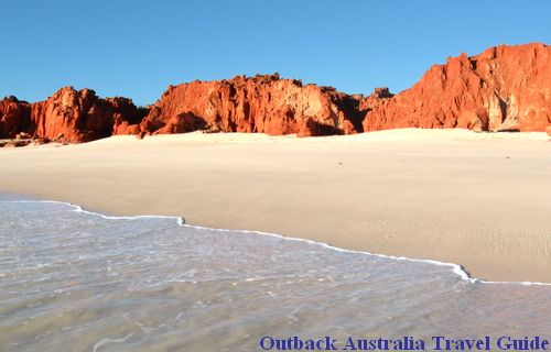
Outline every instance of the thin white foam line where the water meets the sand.
[[176, 220], [177, 226], [181, 227], [187, 227], [192, 229], [202, 229], [202, 230], [209, 230], [209, 231], [222, 231], [222, 232], [242, 232], [242, 233], [253, 233], [253, 234], [260, 234], [260, 235], [269, 235], [269, 237], [274, 237], [278, 239], [282, 239], [285, 241], [301, 241], [301, 242], [306, 242], [310, 244], [314, 245], [320, 245], [325, 249], [329, 249], [333, 251], [338, 251], [338, 252], [345, 252], [345, 253], [356, 253], [356, 254], [367, 254], [367, 255], [374, 255], [378, 257], [385, 257], [385, 258], [390, 258], [395, 261], [407, 261], [407, 262], [412, 262], [412, 263], [428, 263], [428, 264], [433, 264], [433, 265], [439, 265], [439, 266], [447, 266], [452, 270], [454, 274], [460, 276], [462, 279], [468, 282], [468, 283], [482, 283], [482, 284], [506, 284], [506, 285], [523, 285], [523, 286], [531, 286], [531, 285], [538, 285], [538, 286], [551, 286], [551, 283], [540, 283], [540, 282], [494, 282], [494, 280], [485, 280], [485, 279], [479, 279], [476, 277], [472, 277], [460, 264], [454, 264], [454, 263], [446, 263], [446, 262], [440, 262], [440, 261], [434, 261], [434, 260], [421, 260], [421, 258], [412, 258], [412, 257], [406, 257], [406, 256], [396, 256], [396, 255], [386, 255], [386, 254], [377, 254], [377, 253], [370, 253], [366, 251], [354, 251], [354, 250], [346, 250], [346, 249], [341, 249], [337, 246], [333, 246], [327, 243], [323, 242], [316, 242], [312, 240], [306, 240], [306, 239], [299, 239], [299, 238], [292, 238], [292, 237], [284, 237], [281, 234], [277, 233], [270, 233], [270, 232], [262, 232], [262, 231], [255, 231], [255, 230], [228, 230], [228, 229], [215, 229], [215, 228], [207, 228], [207, 227], [201, 227], [201, 226], [192, 226], [185, 223], [185, 219], [182, 217], [175, 217], [175, 216], [107, 216], [100, 212], [94, 212], [89, 210], [85, 210], [83, 207], [73, 205], [71, 202], [65, 202], [65, 201], [57, 201], [57, 200], [0, 200], [0, 202], [46, 202], [46, 204], [58, 204], [58, 205], [65, 205], [69, 206], [74, 209], [76, 212], [84, 212], [88, 215], [93, 215], [96, 217], [100, 217], [102, 219], [111, 219], [111, 220], [117, 220], [117, 219], [126, 219], [126, 220], [132, 220], [132, 219], [174, 219]]

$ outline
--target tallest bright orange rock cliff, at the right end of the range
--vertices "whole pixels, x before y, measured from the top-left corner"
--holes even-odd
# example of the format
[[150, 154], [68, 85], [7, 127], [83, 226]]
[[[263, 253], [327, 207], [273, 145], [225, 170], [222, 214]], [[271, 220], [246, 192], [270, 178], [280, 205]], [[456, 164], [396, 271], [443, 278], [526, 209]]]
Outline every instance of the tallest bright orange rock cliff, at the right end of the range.
[[544, 44], [497, 46], [431, 67], [421, 80], [380, 99], [364, 130], [466, 128], [544, 131], [551, 122], [551, 50]]

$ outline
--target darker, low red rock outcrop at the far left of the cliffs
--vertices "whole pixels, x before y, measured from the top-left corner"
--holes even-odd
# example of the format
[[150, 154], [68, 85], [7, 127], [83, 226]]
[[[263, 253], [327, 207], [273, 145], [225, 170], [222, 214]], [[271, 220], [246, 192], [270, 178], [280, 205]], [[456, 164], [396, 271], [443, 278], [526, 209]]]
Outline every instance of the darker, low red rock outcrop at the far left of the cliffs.
[[14, 97], [0, 100], [0, 138], [24, 132], [34, 139], [79, 143], [112, 134], [137, 134], [128, 128], [148, 113], [128, 98], [101, 99], [91, 89], [65, 87], [45, 101], [28, 103]]

